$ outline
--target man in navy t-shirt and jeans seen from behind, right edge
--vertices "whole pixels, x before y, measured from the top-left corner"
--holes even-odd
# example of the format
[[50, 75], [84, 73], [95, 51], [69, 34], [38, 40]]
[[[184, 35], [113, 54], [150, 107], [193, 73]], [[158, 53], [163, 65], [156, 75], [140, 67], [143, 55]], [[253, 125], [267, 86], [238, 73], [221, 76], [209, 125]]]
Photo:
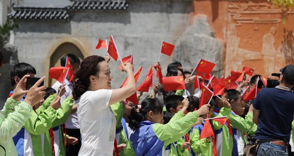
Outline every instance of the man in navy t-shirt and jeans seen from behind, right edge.
[[257, 156], [288, 156], [294, 115], [294, 65], [280, 70], [279, 86], [261, 89], [253, 104]]

